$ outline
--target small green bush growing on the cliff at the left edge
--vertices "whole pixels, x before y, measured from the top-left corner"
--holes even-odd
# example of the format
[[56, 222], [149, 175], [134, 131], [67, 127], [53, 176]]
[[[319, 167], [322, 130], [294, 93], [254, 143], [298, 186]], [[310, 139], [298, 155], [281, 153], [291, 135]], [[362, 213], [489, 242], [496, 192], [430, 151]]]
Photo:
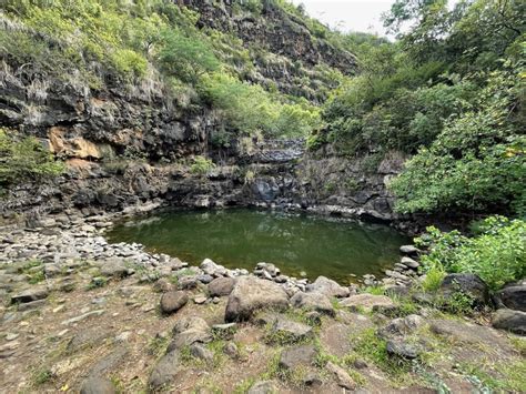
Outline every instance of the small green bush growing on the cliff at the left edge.
[[58, 176], [63, 170], [36, 138], [0, 128], [0, 186]]

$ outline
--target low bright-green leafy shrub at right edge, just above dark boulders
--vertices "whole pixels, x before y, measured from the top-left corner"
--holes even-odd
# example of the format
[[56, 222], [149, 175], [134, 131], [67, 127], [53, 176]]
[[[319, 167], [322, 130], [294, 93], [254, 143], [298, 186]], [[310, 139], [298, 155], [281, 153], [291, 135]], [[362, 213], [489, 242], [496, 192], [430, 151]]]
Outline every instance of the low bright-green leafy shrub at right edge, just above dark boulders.
[[481, 276], [493, 290], [526, 275], [526, 222], [490, 216], [481, 226], [481, 234], [468, 238], [458, 231], [441, 232], [427, 228], [415, 240], [428, 249], [422, 256], [424, 270], [469, 272]]

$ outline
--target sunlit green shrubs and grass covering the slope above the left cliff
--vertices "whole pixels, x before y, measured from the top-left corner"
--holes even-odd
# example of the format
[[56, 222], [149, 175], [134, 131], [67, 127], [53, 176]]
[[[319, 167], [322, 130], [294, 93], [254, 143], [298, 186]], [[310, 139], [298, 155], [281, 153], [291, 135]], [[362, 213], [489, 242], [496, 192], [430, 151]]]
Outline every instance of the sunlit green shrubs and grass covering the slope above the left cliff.
[[[296, 7], [287, 1], [269, 4], [297, 20]], [[233, 8], [260, 17], [263, 2]], [[198, 28], [199, 13], [171, 0], [6, 0], [2, 11], [0, 55], [9, 64], [6, 72], [14, 75], [30, 63], [31, 91], [42, 100], [53, 77], [79, 90], [119, 88], [130, 97], [162, 97], [190, 110], [209, 105], [234, 137], [306, 135], [321, 125], [321, 117], [303, 91], [310, 89], [314, 95], [316, 90], [325, 95], [327, 91], [326, 87], [313, 89], [308, 72], [327, 85], [343, 79], [323, 63], [308, 72], [291, 63], [304, 75], [294, 81], [297, 95], [281, 93], [270, 82], [265, 87], [253, 83], [249, 77], [254, 62], [290, 60], [274, 59], [261, 46], [247, 48], [232, 33]], [[320, 22], [305, 14], [300, 20], [306, 21], [313, 34], [327, 36], [316, 33], [328, 32]]]

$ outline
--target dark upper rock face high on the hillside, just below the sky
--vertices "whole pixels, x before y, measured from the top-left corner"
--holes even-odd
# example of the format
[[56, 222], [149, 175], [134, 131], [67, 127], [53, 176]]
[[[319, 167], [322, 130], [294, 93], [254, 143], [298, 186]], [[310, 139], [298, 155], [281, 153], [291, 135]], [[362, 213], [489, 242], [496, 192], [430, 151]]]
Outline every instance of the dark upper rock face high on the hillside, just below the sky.
[[354, 54], [317, 38], [302, 18], [286, 12], [274, 1], [263, 1], [261, 10], [255, 12], [232, 0], [184, 2], [200, 13], [199, 26], [239, 37], [250, 51], [256, 48], [254, 70], [246, 75], [252, 82], [322, 102], [326, 97], [320, 93], [320, 88], [336, 85], [320, 71], [321, 65], [345, 74], [356, 72]]

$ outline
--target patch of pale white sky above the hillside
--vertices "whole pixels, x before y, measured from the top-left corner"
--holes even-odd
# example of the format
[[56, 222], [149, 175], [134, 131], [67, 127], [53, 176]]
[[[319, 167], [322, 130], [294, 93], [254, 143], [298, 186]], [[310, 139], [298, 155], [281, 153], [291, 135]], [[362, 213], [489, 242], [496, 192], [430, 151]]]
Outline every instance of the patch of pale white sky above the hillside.
[[305, 6], [311, 17], [341, 31], [364, 31], [385, 36], [381, 16], [395, 0], [292, 0]]

